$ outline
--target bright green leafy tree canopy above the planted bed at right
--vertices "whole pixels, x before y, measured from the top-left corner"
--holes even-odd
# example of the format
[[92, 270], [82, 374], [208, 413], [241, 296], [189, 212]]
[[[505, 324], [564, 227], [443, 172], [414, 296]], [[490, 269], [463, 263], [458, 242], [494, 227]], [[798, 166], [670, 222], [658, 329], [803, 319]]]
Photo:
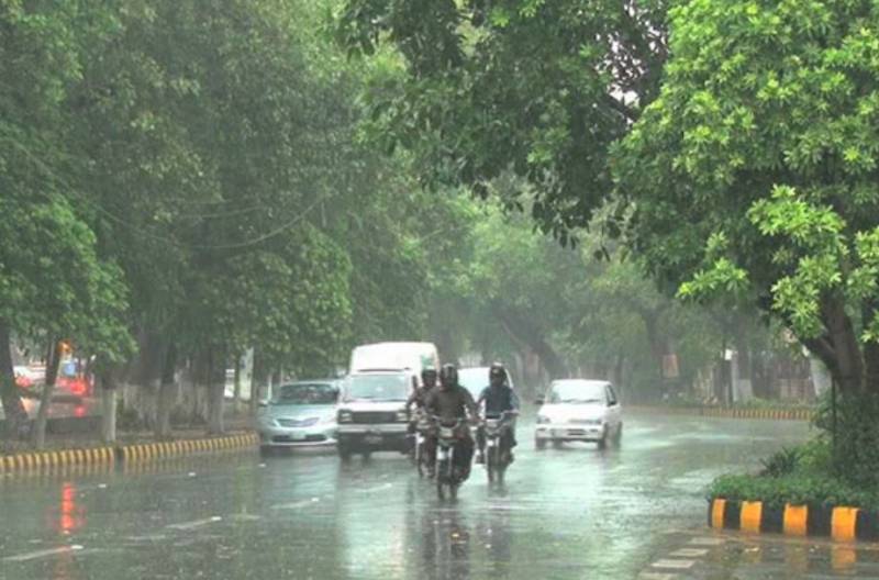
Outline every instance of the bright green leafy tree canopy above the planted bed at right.
[[661, 93], [616, 164], [655, 272], [756, 297], [848, 393], [879, 392], [878, 25], [866, 2], [676, 8]]

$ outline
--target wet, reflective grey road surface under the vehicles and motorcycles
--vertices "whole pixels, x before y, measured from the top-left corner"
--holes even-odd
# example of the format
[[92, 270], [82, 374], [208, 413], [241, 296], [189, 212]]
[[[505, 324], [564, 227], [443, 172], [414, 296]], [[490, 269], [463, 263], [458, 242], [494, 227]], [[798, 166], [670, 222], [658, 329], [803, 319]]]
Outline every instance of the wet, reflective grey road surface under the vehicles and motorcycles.
[[[808, 435], [795, 422], [637, 415], [619, 449], [537, 451], [532, 430], [520, 422], [504, 489], [475, 468], [454, 504], [394, 454], [238, 454], [2, 480], [0, 578], [637, 578], [711, 535], [714, 476]], [[748, 554], [735, 539], [712, 578]]]

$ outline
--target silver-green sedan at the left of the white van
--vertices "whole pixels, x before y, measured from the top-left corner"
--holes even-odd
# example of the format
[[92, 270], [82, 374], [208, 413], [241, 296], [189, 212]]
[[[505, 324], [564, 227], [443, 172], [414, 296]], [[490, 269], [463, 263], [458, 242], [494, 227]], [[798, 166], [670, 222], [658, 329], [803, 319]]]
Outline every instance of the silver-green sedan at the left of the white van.
[[335, 445], [337, 400], [335, 380], [298, 381], [278, 387], [265, 406], [260, 405], [262, 448]]

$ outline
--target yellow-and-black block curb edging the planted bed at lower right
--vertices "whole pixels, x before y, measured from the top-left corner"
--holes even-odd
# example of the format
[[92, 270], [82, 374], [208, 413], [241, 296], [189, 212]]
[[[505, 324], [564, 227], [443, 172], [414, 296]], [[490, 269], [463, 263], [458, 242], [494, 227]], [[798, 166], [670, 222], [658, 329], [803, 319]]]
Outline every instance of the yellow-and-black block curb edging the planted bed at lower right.
[[846, 506], [771, 505], [760, 501], [709, 500], [711, 527], [744, 532], [824, 536], [839, 542], [879, 539], [879, 513]]

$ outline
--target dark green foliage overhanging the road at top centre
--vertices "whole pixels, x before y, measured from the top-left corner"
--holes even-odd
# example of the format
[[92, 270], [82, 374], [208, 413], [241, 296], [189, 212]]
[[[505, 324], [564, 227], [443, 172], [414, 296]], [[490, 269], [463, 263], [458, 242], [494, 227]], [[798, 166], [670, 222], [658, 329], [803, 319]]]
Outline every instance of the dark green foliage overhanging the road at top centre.
[[609, 146], [657, 90], [664, 0], [347, 0], [337, 36], [352, 52], [399, 49], [404, 74], [368, 90], [371, 129], [416, 153], [426, 182], [472, 186], [513, 170], [508, 192], [566, 241], [612, 189]]

